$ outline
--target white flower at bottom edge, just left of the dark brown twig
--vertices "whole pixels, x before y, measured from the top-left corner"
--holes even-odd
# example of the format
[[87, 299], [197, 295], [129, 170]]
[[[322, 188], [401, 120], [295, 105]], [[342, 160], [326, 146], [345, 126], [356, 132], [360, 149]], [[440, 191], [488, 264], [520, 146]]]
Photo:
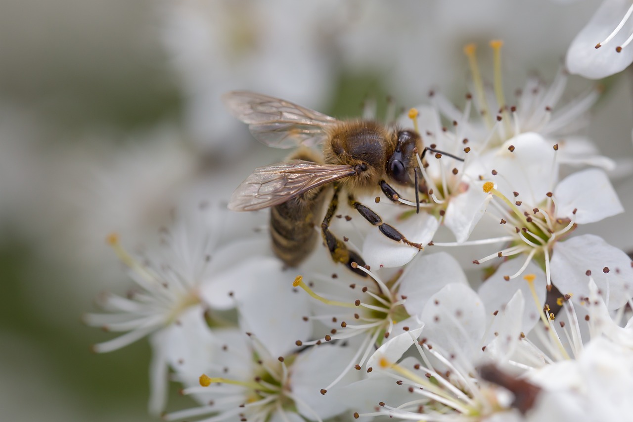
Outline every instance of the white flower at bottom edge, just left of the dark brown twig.
[[[423, 326], [390, 339], [368, 362], [378, 375], [404, 385], [408, 400], [399, 406], [382, 402], [368, 416], [429, 421], [489, 420], [499, 413], [515, 417], [511, 395], [480, 379], [476, 368], [484, 356], [503, 363], [511, 354], [513, 349], [506, 345], [512, 343], [506, 339], [518, 338], [523, 306], [522, 293], [517, 292], [503, 309], [490, 312], [477, 293], [461, 284], [449, 284], [432, 295], [420, 315]], [[402, 359], [412, 345], [417, 359]]]

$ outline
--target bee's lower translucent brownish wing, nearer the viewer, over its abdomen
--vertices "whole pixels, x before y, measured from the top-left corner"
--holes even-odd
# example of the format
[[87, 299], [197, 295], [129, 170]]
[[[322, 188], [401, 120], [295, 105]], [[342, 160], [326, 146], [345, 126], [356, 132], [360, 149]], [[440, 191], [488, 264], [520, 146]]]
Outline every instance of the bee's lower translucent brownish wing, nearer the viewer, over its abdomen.
[[316, 164], [292, 160], [258, 167], [231, 196], [229, 209], [254, 211], [279, 205], [316, 186], [356, 173], [349, 165]]

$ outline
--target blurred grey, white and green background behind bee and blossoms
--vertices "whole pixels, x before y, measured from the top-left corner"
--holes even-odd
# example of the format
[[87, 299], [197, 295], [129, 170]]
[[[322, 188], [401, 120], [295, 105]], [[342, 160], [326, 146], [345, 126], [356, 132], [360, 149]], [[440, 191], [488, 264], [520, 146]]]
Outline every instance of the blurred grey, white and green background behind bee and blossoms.
[[[104, 238], [155, 239], [182, 203], [226, 200], [284, 151], [256, 143], [220, 95], [252, 89], [336, 117], [387, 95], [410, 107], [468, 89], [462, 49], [503, 39], [506, 93], [553, 79], [597, 1], [0, 0], [0, 419], [145, 421], [146, 341], [81, 322], [100, 291], [125, 291]], [[592, 82], [572, 78], [563, 99]], [[630, 72], [606, 87], [587, 134], [633, 158]], [[509, 101], [511, 102], [511, 100]], [[563, 101], [564, 103], [564, 101]], [[627, 213], [591, 227], [633, 248]], [[247, 227], [250, 229], [250, 227]], [[238, 234], [235, 234], [236, 236]], [[190, 404], [173, 391], [170, 408]]]

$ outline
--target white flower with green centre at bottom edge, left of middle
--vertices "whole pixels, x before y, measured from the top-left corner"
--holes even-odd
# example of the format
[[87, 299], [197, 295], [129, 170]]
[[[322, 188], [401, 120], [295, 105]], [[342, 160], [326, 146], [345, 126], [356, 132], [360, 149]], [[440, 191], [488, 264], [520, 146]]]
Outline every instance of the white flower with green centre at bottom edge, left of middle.
[[[277, 356], [258, 337], [235, 329], [192, 329], [183, 331], [179, 340], [178, 361], [188, 364], [186, 370], [176, 364], [175, 376], [185, 384], [183, 393], [202, 406], [167, 414], [166, 420], [211, 415], [204, 420], [322, 421], [349, 407], [337, 388], [326, 391], [323, 385], [342, 371], [353, 354], [350, 347], [321, 345]], [[205, 343], [209, 346], [204, 353], [196, 353]], [[192, 377], [193, 368], [204, 374]], [[356, 379], [354, 373], [346, 377]]]

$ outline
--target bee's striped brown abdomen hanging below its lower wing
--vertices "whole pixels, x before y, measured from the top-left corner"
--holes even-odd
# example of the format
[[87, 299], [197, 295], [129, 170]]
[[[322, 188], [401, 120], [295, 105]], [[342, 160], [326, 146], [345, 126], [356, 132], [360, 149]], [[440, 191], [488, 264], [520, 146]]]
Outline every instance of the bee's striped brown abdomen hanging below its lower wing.
[[270, 210], [273, 252], [289, 267], [299, 265], [315, 247], [323, 198], [323, 186], [319, 186]]

